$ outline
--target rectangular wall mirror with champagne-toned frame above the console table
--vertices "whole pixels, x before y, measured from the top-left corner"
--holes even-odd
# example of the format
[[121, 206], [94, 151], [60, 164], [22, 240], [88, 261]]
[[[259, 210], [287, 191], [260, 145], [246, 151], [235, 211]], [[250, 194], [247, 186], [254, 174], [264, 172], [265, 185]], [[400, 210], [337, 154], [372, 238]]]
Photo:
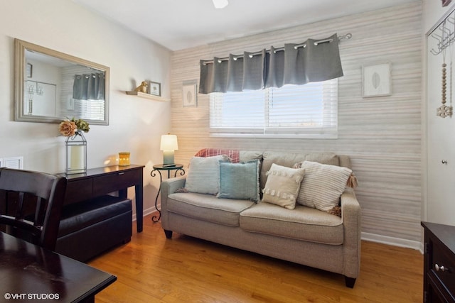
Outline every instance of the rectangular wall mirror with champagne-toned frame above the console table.
[[109, 67], [15, 40], [16, 121], [109, 124]]

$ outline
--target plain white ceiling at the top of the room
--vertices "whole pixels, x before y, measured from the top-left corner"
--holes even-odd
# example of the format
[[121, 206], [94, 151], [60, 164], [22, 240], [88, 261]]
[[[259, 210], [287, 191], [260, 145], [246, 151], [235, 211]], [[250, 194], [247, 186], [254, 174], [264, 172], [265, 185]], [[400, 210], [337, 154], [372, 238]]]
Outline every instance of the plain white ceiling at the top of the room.
[[[170, 50], [419, 0], [73, 0]], [[316, 38], [316, 37], [315, 37]]]

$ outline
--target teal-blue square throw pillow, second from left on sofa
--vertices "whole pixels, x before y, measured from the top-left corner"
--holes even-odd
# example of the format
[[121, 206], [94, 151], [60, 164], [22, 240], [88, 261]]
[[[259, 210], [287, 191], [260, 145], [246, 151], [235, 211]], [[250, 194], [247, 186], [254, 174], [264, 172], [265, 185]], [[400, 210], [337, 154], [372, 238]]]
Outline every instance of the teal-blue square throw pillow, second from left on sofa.
[[259, 201], [259, 160], [220, 162], [218, 198]]

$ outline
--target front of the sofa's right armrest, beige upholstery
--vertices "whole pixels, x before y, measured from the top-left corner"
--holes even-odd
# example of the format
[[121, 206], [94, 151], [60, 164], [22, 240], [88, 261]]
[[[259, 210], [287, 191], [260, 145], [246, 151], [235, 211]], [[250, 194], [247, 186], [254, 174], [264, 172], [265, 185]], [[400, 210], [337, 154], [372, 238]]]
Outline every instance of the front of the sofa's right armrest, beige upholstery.
[[341, 194], [341, 217], [344, 227], [344, 275], [358, 277], [360, 271], [361, 209], [353, 189]]

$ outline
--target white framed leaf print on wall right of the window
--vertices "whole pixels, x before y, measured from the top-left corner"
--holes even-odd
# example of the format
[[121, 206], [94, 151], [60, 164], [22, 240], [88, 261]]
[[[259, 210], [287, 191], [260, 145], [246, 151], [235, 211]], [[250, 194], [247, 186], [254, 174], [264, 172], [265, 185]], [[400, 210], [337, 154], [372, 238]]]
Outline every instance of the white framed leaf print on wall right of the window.
[[363, 97], [390, 96], [391, 91], [390, 62], [362, 66]]

